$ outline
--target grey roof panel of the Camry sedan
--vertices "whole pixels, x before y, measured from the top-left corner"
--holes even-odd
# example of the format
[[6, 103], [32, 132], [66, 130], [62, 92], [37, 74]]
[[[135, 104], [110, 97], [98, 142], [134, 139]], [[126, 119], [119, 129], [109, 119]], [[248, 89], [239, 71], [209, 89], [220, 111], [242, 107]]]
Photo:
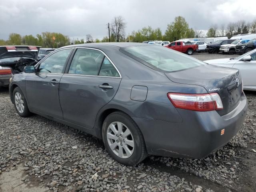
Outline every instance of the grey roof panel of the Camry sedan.
[[115, 46], [115, 47], [129, 47], [129, 46], [140, 46], [140, 45], [150, 45], [147, 43], [132, 43], [132, 42], [105, 42], [105, 43], [85, 43], [85, 44], [74, 44], [68, 45], [62, 48], [69, 48], [69, 47], [89, 47], [89, 48], [103, 48], [106, 46]]

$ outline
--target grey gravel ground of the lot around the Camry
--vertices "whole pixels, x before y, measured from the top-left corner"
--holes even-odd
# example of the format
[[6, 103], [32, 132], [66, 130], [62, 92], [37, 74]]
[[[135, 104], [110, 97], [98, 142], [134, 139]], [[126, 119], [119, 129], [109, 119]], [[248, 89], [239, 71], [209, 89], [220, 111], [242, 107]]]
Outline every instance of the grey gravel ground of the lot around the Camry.
[[255, 192], [256, 93], [246, 96], [242, 129], [216, 153], [200, 160], [150, 156], [128, 167], [93, 136], [38, 115], [21, 118], [0, 88], [0, 192]]

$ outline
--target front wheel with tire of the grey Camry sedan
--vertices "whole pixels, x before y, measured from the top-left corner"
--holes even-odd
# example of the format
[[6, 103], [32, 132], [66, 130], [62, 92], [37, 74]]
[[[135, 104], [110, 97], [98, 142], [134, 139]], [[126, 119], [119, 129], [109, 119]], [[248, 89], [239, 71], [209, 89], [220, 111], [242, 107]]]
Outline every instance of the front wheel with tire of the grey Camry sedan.
[[22, 93], [19, 87], [16, 87], [13, 90], [12, 98], [13, 98], [15, 110], [20, 116], [28, 117], [31, 115], [28, 109], [26, 98], [24, 97], [24, 94]]

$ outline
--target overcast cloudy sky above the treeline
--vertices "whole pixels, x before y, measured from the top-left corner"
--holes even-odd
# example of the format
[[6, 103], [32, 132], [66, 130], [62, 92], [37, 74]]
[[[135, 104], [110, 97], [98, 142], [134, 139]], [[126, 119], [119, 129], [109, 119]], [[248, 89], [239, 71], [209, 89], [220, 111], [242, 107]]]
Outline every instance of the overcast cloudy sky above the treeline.
[[0, 39], [46, 31], [102, 39], [106, 23], [119, 15], [127, 23], [126, 35], [144, 26], [164, 33], [179, 15], [190, 27], [207, 30], [211, 24], [252, 21], [255, 7], [256, 0], [0, 0]]

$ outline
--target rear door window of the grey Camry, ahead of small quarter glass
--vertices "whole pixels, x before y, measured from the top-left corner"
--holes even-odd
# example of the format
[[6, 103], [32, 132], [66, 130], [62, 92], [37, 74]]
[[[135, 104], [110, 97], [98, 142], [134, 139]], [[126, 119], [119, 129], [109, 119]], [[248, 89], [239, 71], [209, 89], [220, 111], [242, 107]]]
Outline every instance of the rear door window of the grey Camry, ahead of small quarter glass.
[[72, 59], [69, 74], [98, 75], [104, 54], [98, 50], [78, 48]]

